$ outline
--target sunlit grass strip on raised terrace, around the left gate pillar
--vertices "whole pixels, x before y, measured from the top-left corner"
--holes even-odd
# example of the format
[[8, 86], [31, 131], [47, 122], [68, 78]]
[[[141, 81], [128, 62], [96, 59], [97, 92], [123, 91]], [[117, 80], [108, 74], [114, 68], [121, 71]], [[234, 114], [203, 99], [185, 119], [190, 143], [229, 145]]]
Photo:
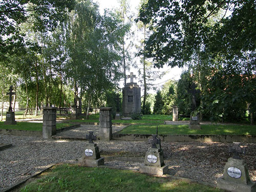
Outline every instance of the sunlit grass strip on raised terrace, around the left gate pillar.
[[[61, 129], [65, 126], [70, 126], [70, 123], [57, 123], [56, 128]], [[16, 125], [5, 125], [5, 122], [0, 121], [0, 129], [5, 130], [26, 130], [26, 131], [42, 131], [42, 123], [17, 122]]]

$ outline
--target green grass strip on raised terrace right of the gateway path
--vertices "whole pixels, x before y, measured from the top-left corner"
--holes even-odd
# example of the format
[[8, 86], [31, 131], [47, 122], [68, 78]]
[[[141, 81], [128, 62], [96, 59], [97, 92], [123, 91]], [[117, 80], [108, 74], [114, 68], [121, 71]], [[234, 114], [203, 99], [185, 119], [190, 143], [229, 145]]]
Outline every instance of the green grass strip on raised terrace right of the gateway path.
[[[157, 125], [131, 125], [121, 134], [156, 134]], [[160, 135], [256, 135], [256, 125], [201, 125], [201, 130], [190, 130], [188, 125], [158, 125]]]

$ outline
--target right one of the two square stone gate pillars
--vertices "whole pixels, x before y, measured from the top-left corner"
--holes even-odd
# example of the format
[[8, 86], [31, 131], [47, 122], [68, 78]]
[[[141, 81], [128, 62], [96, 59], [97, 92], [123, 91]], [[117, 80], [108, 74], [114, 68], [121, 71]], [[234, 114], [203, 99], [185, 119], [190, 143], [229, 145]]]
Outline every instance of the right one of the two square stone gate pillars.
[[110, 107], [100, 108], [99, 111], [99, 139], [110, 141], [112, 139], [112, 117]]

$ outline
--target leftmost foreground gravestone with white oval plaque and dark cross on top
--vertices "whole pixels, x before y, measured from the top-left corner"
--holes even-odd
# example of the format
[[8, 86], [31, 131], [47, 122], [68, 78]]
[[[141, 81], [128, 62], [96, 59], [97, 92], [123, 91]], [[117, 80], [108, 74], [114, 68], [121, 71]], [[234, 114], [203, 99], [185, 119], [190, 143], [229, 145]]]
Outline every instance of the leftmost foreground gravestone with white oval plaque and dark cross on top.
[[96, 143], [93, 143], [96, 140], [96, 135], [93, 135], [91, 131], [89, 135], [86, 135], [86, 139], [89, 140], [89, 143], [85, 146], [83, 156], [78, 159], [78, 165], [90, 167], [104, 165], [104, 157], [100, 157], [99, 147]]

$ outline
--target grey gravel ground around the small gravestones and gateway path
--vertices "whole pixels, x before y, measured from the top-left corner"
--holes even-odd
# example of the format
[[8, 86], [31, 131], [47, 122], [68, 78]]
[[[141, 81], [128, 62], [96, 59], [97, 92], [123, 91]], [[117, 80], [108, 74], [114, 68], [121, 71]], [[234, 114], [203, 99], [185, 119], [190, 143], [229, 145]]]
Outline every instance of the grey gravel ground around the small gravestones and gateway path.
[[[123, 127], [113, 126], [113, 132]], [[98, 133], [98, 126], [82, 125], [74, 130], [62, 132], [62, 135], [85, 134], [89, 130]], [[57, 162], [76, 162], [82, 156], [84, 144], [81, 140], [51, 140], [39, 137], [1, 135], [1, 143], [13, 146], [0, 151], [0, 190], [18, 180], [24, 179], [46, 165]], [[104, 152], [143, 152], [151, 145], [142, 141], [96, 141], [100, 151]], [[225, 163], [231, 155], [228, 148], [231, 143], [200, 142], [162, 142], [164, 162], [169, 165], [169, 174], [197, 181], [216, 184], [223, 174]], [[249, 169], [252, 181], [256, 181], [256, 143], [247, 145], [243, 157]], [[138, 169], [138, 162], [108, 161], [106, 165]]]

